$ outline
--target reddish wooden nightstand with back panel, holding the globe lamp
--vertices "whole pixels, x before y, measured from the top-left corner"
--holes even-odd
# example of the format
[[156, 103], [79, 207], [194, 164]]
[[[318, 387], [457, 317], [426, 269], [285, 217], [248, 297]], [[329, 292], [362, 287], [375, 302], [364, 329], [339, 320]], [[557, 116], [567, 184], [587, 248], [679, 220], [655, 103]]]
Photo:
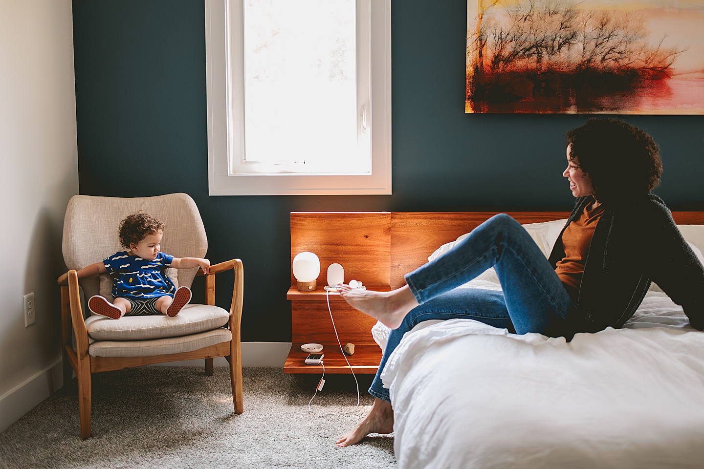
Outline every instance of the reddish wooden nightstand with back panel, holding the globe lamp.
[[[291, 213], [291, 262], [299, 252], [313, 252], [320, 259], [320, 276], [318, 290], [299, 292], [291, 273], [286, 297], [291, 300], [292, 345], [284, 373], [320, 373], [320, 366], [304, 362], [308, 354], [301, 345], [307, 343], [323, 345], [325, 373], [349, 373], [327, 309], [327, 268], [337, 262], [346, 282], [355, 279], [370, 290], [389, 291], [390, 246], [389, 212]], [[354, 354], [347, 356], [353, 370], [376, 373], [382, 359], [382, 349], [372, 338], [376, 319], [350, 307], [338, 293], [330, 293], [329, 300], [341, 344], [355, 345]]]

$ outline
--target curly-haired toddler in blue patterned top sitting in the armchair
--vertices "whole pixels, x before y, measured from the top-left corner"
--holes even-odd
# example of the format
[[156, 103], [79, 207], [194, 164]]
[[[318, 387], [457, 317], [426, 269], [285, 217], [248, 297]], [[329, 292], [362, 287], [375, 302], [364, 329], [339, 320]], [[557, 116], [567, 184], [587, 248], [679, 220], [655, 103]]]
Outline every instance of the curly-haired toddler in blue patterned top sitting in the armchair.
[[[113, 277], [113, 303], [101, 295], [88, 300], [94, 314], [120, 319], [127, 316], [165, 314], [176, 316], [191, 301], [188, 287], [175, 288], [165, 269], [189, 269], [200, 266], [208, 274], [210, 261], [199, 257], [173, 257], [161, 252], [159, 243], [165, 225], [142, 211], [120, 223], [120, 244], [126, 251], [115, 252], [103, 262], [96, 262], [76, 272], [78, 278], [108, 272]], [[58, 278], [63, 283], [68, 274]]]

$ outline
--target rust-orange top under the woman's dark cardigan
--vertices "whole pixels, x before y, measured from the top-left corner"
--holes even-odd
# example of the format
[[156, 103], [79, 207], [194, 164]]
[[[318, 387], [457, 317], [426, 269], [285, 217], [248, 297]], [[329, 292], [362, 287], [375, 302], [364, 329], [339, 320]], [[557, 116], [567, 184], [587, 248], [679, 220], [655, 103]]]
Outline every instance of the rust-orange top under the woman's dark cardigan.
[[589, 252], [591, 236], [594, 234], [596, 224], [604, 212], [603, 205], [589, 210], [590, 205], [584, 207], [584, 212], [562, 232], [562, 247], [565, 248], [565, 257], [558, 262], [555, 273], [570, 296], [576, 297], [579, 284], [582, 283], [584, 263]]

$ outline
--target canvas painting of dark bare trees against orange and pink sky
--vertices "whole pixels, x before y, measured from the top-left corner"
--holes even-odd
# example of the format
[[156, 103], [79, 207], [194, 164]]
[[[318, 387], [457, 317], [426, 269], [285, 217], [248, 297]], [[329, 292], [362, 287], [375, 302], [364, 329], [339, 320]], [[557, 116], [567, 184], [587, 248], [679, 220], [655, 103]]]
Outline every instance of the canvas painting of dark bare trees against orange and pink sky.
[[704, 0], [468, 0], [465, 112], [704, 114]]

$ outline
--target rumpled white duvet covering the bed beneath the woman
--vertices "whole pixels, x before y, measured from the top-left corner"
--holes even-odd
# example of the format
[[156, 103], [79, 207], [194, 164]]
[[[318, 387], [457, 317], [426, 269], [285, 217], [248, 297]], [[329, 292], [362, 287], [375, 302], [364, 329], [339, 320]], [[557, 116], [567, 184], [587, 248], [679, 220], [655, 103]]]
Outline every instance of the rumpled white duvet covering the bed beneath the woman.
[[569, 343], [427, 321], [382, 378], [403, 469], [704, 468], [704, 333], [663, 293]]

